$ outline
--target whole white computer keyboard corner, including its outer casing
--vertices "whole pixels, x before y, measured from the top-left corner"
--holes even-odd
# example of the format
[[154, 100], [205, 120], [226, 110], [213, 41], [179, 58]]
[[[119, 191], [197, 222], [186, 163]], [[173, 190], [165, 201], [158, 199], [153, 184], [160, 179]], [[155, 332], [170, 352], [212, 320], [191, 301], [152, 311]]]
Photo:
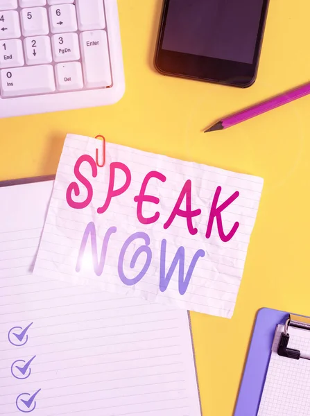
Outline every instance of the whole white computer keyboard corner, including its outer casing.
[[117, 0], [0, 0], [0, 118], [112, 104], [124, 90]]

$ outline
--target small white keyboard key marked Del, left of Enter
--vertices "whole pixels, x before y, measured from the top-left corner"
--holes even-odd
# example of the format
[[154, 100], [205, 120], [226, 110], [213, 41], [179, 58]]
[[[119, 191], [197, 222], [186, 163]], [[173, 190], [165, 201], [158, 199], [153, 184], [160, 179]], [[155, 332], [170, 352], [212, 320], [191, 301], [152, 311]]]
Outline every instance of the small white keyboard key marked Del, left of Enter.
[[67, 62], [55, 66], [58, 91], [73, 91], [83, 88], [83, 73], [80, 62]]

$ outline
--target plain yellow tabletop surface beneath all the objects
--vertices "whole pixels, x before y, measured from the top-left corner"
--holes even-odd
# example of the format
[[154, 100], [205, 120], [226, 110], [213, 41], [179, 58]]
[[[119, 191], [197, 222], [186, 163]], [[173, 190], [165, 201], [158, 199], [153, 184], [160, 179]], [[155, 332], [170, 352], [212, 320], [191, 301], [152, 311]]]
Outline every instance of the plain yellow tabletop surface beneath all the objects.
[[55, 173], [67, 132], [264, 177], [232, 319], [191, 314], [203, 415], [230, 416], [257, 310], [310, 315], [310, 96], [226, 131], [201, 130], [309, 81], [310, 3], [270, 1], [259, 73], [248, 89], [157, 73], [161, 7], [162, 0], [119, 0], [126, 71], [119, 103], [0, 119], [0, 180]]

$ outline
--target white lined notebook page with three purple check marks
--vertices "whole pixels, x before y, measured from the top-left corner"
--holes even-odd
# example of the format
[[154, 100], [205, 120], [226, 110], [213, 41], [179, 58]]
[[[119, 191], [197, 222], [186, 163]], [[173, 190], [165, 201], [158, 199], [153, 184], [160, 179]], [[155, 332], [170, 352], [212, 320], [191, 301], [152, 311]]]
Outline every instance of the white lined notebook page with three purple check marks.
[[0, 415], [200, 416], [186, 311], [31, 275], [52, 185], [0, 188]]

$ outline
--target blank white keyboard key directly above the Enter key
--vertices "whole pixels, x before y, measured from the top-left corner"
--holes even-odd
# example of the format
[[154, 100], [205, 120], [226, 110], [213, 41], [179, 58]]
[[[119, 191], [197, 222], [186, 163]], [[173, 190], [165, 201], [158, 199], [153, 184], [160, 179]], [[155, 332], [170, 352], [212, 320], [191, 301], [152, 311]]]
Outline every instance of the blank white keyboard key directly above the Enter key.
[[76, 11], [80, 31], [105, 28], [105, 12], [102, 0], [76, 0]]

